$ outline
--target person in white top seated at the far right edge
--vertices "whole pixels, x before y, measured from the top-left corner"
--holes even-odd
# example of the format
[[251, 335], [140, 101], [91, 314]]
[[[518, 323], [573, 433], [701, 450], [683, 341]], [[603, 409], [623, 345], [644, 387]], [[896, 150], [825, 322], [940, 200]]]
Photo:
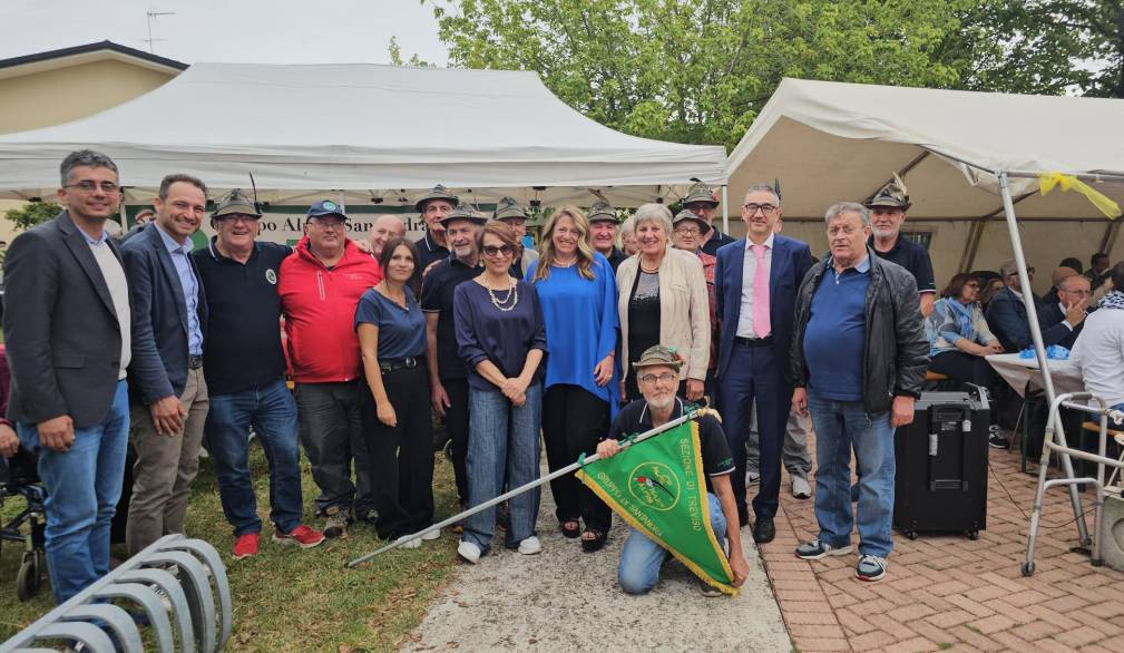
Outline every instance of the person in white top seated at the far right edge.
[[[1081, 369], [1085, 389], [1116, 410], [1124, 410], [1124, 263], [1108, 273], [1113, 289], [1085, 320], [1070, 360]], [[1109, 423], [1109, 426], [1116, 428]]]

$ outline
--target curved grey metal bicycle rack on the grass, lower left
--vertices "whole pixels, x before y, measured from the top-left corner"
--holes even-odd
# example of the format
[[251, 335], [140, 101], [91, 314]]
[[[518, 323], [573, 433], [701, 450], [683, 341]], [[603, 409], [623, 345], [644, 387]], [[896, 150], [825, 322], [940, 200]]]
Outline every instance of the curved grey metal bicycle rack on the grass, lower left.
[[211, 653], [230, 638], [230, 583], [218, 552], [202, 539], [165, 535], [0, 644], [0, 653], [53, 651], [43, 647], [47, 641], [90, 653], [144, 651], [138, 613], [115, 599], [140, 608], [162, 653], [175, 651], [176, 640], [180, 651]]

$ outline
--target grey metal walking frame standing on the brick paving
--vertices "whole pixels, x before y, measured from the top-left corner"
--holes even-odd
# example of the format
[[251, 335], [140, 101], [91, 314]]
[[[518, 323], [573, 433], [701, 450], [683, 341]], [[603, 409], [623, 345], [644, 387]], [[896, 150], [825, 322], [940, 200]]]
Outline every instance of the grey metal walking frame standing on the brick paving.
[[[1094, 401], [1097, 407], [1088, 406], [1086, 403], [1077, 403], [1075, 400]], [[1098, 417], [1100, 425], [1100, 438], [1097, 445], [1096, 454], [1078, 448], [1071, 448], [1067, 444], [1066, 432], [1062, 427], [1061, 418], [1058, 415], [1058, 410], [1062, 406], [1073, 410], [1081, 410]], [[1058, 486], [1066, 486], [1069, 488], [1070, 502], [1073, 507], [1073, 519], [1077, 524], [1077, 537], [1080, 543], [1080, 547], [1078, 550], [1089, 554], [1090, 562], [1094, 566], [1100, 566], [1104, 564], [1104, 559], [1100, 553], [1100, 513], [1105, 505], [1105, 465], [1124, 469], [1124, 463], [1105, 455], [1109, 414], [1113, 414], [1112, 416], [1114, 419], [1124, 418], [1124, 414], [1108, 410], [1105, 406], [1105, 401], [1091, 392], [1069, 392], [1060, 394], [1050, 405], [1050, 414], [1046, 418], [1045, 439], [1042, 443], [1042, 460], [1039, 464], [1039, 486], [1034, 493], [1034, 510], [1031, 514], [1031, 530], [1026, 541], [1026, 560], [1023, 561], [1022, 565], [1024, 577], [1028, 577], [1034, 573], [1034, 545], [1037, 539], [1039, 523], [1042, 517], [1042, 504], [1045, 491], [1049, 488]], [[1054, 442], [1055, 436], [1058, 441], [1057, 443]], [[1060, 479], [1046, 480], [1046, 471], [1050, 466], [1050, 454], [1052, 452], [1058, 453], [1064, 475]], [[1073, 473], [1072, 459], [1096, 463], [1097, 478], [1077, 478]], [[1093, 513], [1094, 535], [1091, 537], [1089, 536], [1088, 525], [1085, 523], [1085, 510], [1081, 507], [1081, 497], [1077, 491], [1077, 486], [1081, 483], [1088, 483], [1096, 488]]]

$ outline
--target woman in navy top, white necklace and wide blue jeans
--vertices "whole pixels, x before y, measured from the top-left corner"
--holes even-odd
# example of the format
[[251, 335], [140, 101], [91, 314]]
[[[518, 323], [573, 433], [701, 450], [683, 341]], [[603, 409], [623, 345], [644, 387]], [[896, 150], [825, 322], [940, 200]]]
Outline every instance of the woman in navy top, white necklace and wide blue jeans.
[[[519, 252], [515, 230], [492, 221], [477, 234], [484, 271], [456, 287], [456, 344], [469, 366], [469, 506], [493, 499], [507, 484], [538, 478], [542, 425], [541, 363], [546, 351], [535, 288], [510, 275]], [[538, 491], [508, 501], [506, 546], [524, 555], [542, 551], [535, 535]], [[469, 517], [456, 553], [475, 563], [491, 547], [496, 508]]]

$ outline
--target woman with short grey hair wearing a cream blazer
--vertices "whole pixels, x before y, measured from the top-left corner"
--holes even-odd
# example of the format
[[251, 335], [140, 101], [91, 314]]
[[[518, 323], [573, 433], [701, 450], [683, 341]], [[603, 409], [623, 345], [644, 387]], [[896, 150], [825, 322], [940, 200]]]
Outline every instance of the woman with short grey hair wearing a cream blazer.
[[[640, 252], [617, 267], [623, 363], [631, 370], [629, 363], [649, 347], [674, 348], [683, 359], [680, 393], [698, 401], [710, 362], [711, 333], [703, 263], [694, 253], [668, 247], [668, 207], [643, 205], [632, 219]], [[628, 372], [624, 393], [629, 400], [641, 398], [635, 371]]]

